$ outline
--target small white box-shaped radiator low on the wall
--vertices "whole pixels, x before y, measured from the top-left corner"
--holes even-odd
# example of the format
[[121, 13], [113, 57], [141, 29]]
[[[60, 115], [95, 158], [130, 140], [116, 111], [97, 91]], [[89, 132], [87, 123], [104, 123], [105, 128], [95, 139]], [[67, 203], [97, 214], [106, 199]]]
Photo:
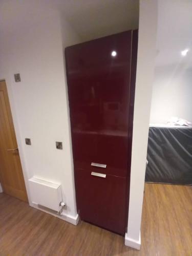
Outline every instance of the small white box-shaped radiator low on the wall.
[[59, 204], [62, 202], [60, 184], [32, 177], [29, 179], [29, 189], [33, 203], [45, 206], [55, 211], [60, 210]]

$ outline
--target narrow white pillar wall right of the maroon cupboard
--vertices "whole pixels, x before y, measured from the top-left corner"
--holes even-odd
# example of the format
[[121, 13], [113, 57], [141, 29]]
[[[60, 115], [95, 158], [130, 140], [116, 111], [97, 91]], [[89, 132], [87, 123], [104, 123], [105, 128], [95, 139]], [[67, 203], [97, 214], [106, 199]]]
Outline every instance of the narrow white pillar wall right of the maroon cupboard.
[[148, 127], [155, 67], [157, 0], [140, 0], [130, 203], [125, 245], [140, 248]]

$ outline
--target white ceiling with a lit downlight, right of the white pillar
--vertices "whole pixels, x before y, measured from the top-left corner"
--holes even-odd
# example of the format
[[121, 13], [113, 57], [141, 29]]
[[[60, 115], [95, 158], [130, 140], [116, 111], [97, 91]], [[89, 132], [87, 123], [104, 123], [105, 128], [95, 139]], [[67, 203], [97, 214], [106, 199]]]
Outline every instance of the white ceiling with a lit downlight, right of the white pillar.
[[156, 66], [171, 65], [192, 66], [191, 0], [159, 0]]

